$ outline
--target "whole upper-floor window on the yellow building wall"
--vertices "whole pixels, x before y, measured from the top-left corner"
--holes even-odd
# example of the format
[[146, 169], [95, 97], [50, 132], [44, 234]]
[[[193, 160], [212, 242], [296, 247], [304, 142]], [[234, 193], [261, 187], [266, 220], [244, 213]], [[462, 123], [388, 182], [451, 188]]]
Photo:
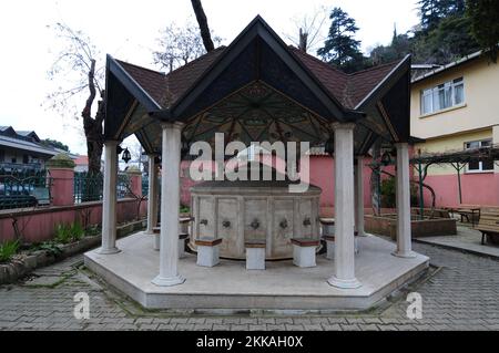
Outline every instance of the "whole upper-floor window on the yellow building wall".
[[421, 115], [436, 113], [465, 103], [462, 77], [421, 91]]

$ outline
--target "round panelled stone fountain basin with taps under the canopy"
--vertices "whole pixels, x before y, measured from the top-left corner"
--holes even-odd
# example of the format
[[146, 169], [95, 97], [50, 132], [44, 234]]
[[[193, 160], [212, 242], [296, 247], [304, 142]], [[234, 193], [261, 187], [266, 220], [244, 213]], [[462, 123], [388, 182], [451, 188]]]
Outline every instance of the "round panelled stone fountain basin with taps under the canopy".
[[292, 238], [319, 238], [322, 189], [292, 194], [292, 181], [206, 181], [191, 188], [191, 248], [200, 238], [222, 238], [220, 256], [245, 259], [246, 241], [264, 241], [266, 259], [293, 257]]

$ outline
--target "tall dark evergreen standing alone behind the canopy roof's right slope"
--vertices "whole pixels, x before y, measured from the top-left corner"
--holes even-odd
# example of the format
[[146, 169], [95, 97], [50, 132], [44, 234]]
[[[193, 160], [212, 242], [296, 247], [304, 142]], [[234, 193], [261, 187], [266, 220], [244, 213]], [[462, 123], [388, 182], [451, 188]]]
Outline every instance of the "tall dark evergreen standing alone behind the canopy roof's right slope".
[[329, 19], [332, 20], [329, 34], [324, 42], [324, 48], [320, 48], [317, 54], [324, 61], [347, 71], [361, 69], [364, 55], [359, 49], [360, 41], [354, 38], [358, 31], [355, 20], [340, 8], [334, 8]]

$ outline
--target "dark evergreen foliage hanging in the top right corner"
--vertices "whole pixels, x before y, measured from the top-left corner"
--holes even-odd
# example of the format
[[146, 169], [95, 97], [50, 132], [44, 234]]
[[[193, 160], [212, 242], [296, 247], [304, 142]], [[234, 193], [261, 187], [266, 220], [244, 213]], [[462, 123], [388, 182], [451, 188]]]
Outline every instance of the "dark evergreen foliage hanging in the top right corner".
[[499, 1], [468, 0], [467, 14], [470, 32], [482, 50], [488, 50], [490, 58], [497, 62], [499, 43]]

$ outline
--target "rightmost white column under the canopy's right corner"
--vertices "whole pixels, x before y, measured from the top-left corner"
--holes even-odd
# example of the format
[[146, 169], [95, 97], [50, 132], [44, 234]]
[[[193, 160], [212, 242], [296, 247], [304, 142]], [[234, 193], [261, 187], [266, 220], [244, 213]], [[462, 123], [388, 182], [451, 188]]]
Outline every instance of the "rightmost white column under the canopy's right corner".
[[395, 144], [397, 148], [397, 250], [394, 256], [414, 258], [410, 230], [409, 145]]

